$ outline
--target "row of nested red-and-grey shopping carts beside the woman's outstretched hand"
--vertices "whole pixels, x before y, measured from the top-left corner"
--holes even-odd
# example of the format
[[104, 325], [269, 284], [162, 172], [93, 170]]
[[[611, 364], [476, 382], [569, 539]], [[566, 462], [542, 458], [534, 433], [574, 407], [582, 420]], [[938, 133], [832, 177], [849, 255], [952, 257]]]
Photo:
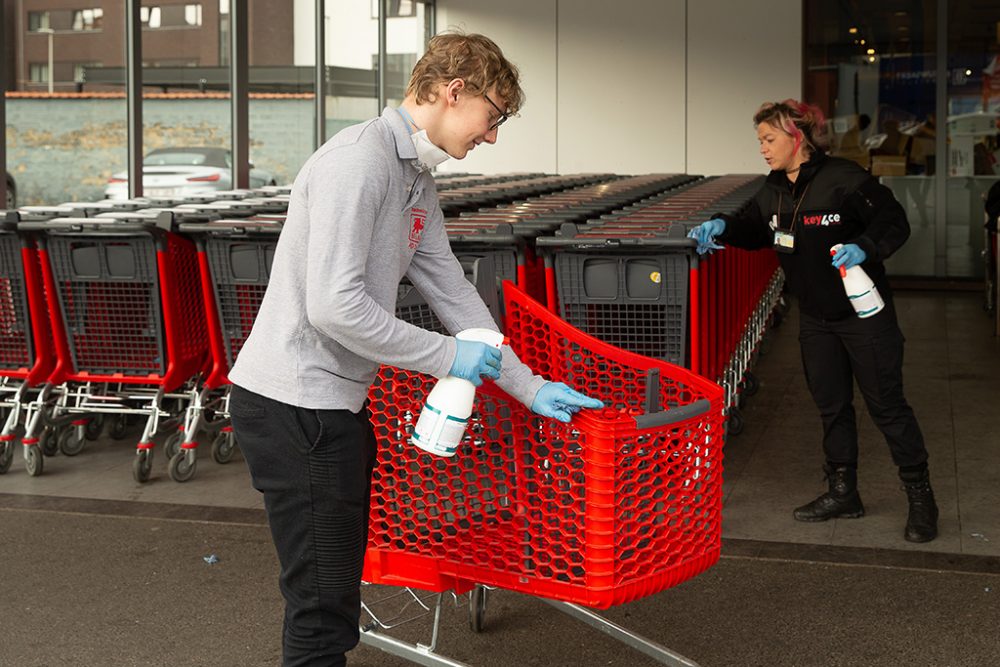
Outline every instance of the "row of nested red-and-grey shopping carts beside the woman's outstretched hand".
[[730, 432], [756, 391], [751, 366], [783, 287], [772, 252], [729, 248], [699, 256], [687, 232], [737, 215], [763, 177], [701, 179], [539, 238], [547, 303], [582, 331], [719, 382]]

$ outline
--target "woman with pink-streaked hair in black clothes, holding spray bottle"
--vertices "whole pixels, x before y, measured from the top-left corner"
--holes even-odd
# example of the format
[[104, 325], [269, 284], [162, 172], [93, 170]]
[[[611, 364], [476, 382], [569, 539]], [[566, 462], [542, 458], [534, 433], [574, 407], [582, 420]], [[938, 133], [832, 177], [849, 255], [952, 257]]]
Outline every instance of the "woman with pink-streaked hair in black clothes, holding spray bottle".
[[[806, 381], [823, 421], [829, 490], [795, 510], [799, 521], [864, 515], [857, 488], [858, 431], [854, 380], [885, 436], [909, 500], [904, 531], [911, 542], [937, 537], [938, 509], [927, 450], [903, 396], [903, 334], [896, 322], [883, 262], [910, 235], [892, 192], [854, 162], [823, 151], [823, 115], [796, 100], [766, 103], [754, 115], [760, 152], [771, 168], [738, 216], [719, 215], [691, 230], [698, 252], [773, 247], [789, 291], [798, 297], [799, 343]], [[831, 248], [841, 247], [831, 257]], [[860, 318], [839, 268], [861, 265], [885, 308]]]

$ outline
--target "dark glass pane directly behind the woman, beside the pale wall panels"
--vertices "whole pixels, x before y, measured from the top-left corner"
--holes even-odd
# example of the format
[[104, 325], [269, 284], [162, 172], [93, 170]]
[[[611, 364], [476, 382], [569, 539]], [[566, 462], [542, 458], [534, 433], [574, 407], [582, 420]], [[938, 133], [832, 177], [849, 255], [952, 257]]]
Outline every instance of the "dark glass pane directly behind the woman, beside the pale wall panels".
[[934, 275], [936, 3], [807, 0], [805, 98], [830, 119], [830, 152], [893, 190], [910, 222], [890, 273]]

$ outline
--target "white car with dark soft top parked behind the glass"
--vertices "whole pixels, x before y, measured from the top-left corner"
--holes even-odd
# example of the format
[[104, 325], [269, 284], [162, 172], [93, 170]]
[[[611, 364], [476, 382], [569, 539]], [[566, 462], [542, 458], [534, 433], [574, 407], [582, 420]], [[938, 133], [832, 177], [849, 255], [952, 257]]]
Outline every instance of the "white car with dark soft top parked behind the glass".
[[[178, 146], [157, 148], [142, 161], [142, 194], [146, 197], [185, 197], [233, 188], [232, 154], [225, 148]], [[276, 185], [274, 176], [250, 165], [250, 187]], [[108, 179], [108, 199], [128, 199], [128, 172]]]

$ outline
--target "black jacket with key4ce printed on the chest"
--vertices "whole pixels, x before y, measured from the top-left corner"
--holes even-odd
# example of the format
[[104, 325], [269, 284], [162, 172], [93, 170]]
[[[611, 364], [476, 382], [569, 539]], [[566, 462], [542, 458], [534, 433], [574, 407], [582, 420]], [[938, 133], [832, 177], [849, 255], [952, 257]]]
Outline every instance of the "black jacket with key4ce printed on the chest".
[[865, 251], [862, 268], [886, 304], [891, 302], [882, 262], [909, 238], [910, 224], [889, 188], [854, 162], [816, 153], [795, 183], [784, 171], [772, 171], [740, 215], [717, 216], [726, 221], [719, 240], [748, 250], [772, 247], [772, 216], [779, 214], [779, 201], [781, 228], [794, 222], [795, 252], [779, 252], [778, 258], [802, 312], [825, 320], [854, 314], [840, 273], [830, 263], [830, 247], [837, 243], [856, 243]]

